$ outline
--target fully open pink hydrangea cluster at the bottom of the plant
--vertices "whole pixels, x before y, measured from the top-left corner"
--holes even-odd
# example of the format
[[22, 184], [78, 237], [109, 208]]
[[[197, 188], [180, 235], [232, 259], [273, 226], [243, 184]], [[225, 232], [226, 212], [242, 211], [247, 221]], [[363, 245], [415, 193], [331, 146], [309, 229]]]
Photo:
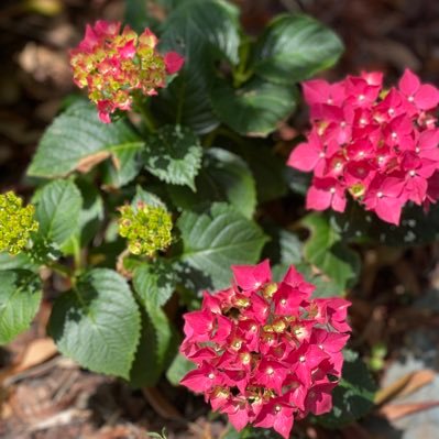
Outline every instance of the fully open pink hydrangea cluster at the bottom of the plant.
[[295, 419], [332, 407], [350, 303], [310, 298], [314, 285], [294, 266], [281, 283], [272, 282], [268, 261], [232, 271], [230, 288], [205, 292], [201, 309], [184, 316], [180, 351], [197, 369], [182, 384], [238, 430], [251, 424], [287, 439]]

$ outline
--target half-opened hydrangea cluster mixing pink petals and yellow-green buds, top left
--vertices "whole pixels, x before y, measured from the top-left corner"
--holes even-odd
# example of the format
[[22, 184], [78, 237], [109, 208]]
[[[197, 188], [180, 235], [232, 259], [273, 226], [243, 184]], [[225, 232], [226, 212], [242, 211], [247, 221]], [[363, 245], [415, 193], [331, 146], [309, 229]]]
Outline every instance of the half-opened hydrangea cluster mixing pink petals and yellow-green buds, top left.
[[146, 29], [138, 35], [121, 23], [97, 21], [87, 25], [86, 35], [70, 51], [74, 81], [88, 87], [88, 97], [98, 107], [99, 118], [110, 123], [116, 110], [127, 111], [133, 102], [133, 91], [156, 95], [166, 85], [166, 75], [177, 73], [183, 57], [176, 52], [161, 55], [157, 37]]

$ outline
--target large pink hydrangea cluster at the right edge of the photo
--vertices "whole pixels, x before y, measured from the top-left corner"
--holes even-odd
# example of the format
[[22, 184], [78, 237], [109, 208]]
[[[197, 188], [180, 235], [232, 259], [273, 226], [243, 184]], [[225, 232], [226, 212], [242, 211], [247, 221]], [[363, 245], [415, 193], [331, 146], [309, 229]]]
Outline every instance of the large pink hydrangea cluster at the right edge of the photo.
[[403, 207], [426, 209], [439, 199], [439, 90], [406, 69], [398, 87], [383, 88], [381, 73], [328, 84], [304, 83], [311, 130], [288, 165], [314, 172], [306, 206], [344, 211], [347, 194], [398, 224]]

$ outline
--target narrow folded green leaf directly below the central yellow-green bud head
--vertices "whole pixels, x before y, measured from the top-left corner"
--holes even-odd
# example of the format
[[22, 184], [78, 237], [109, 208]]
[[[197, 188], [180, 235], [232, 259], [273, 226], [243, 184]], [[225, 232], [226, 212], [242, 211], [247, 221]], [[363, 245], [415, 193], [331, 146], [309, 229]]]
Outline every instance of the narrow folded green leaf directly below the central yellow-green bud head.
[[[173, 295], [176, 276], [165, 261], [143, 264], [134, 272], [134, 289], [146, 311], [143, 325], [143, 339], [136, 352], [131, 371], [131, 382], [135, 385], [155, 385], [176, 350], [176, 338], [172, 325], [162, 306]], [[142, 358], [143, 361], [138, 361]]]

